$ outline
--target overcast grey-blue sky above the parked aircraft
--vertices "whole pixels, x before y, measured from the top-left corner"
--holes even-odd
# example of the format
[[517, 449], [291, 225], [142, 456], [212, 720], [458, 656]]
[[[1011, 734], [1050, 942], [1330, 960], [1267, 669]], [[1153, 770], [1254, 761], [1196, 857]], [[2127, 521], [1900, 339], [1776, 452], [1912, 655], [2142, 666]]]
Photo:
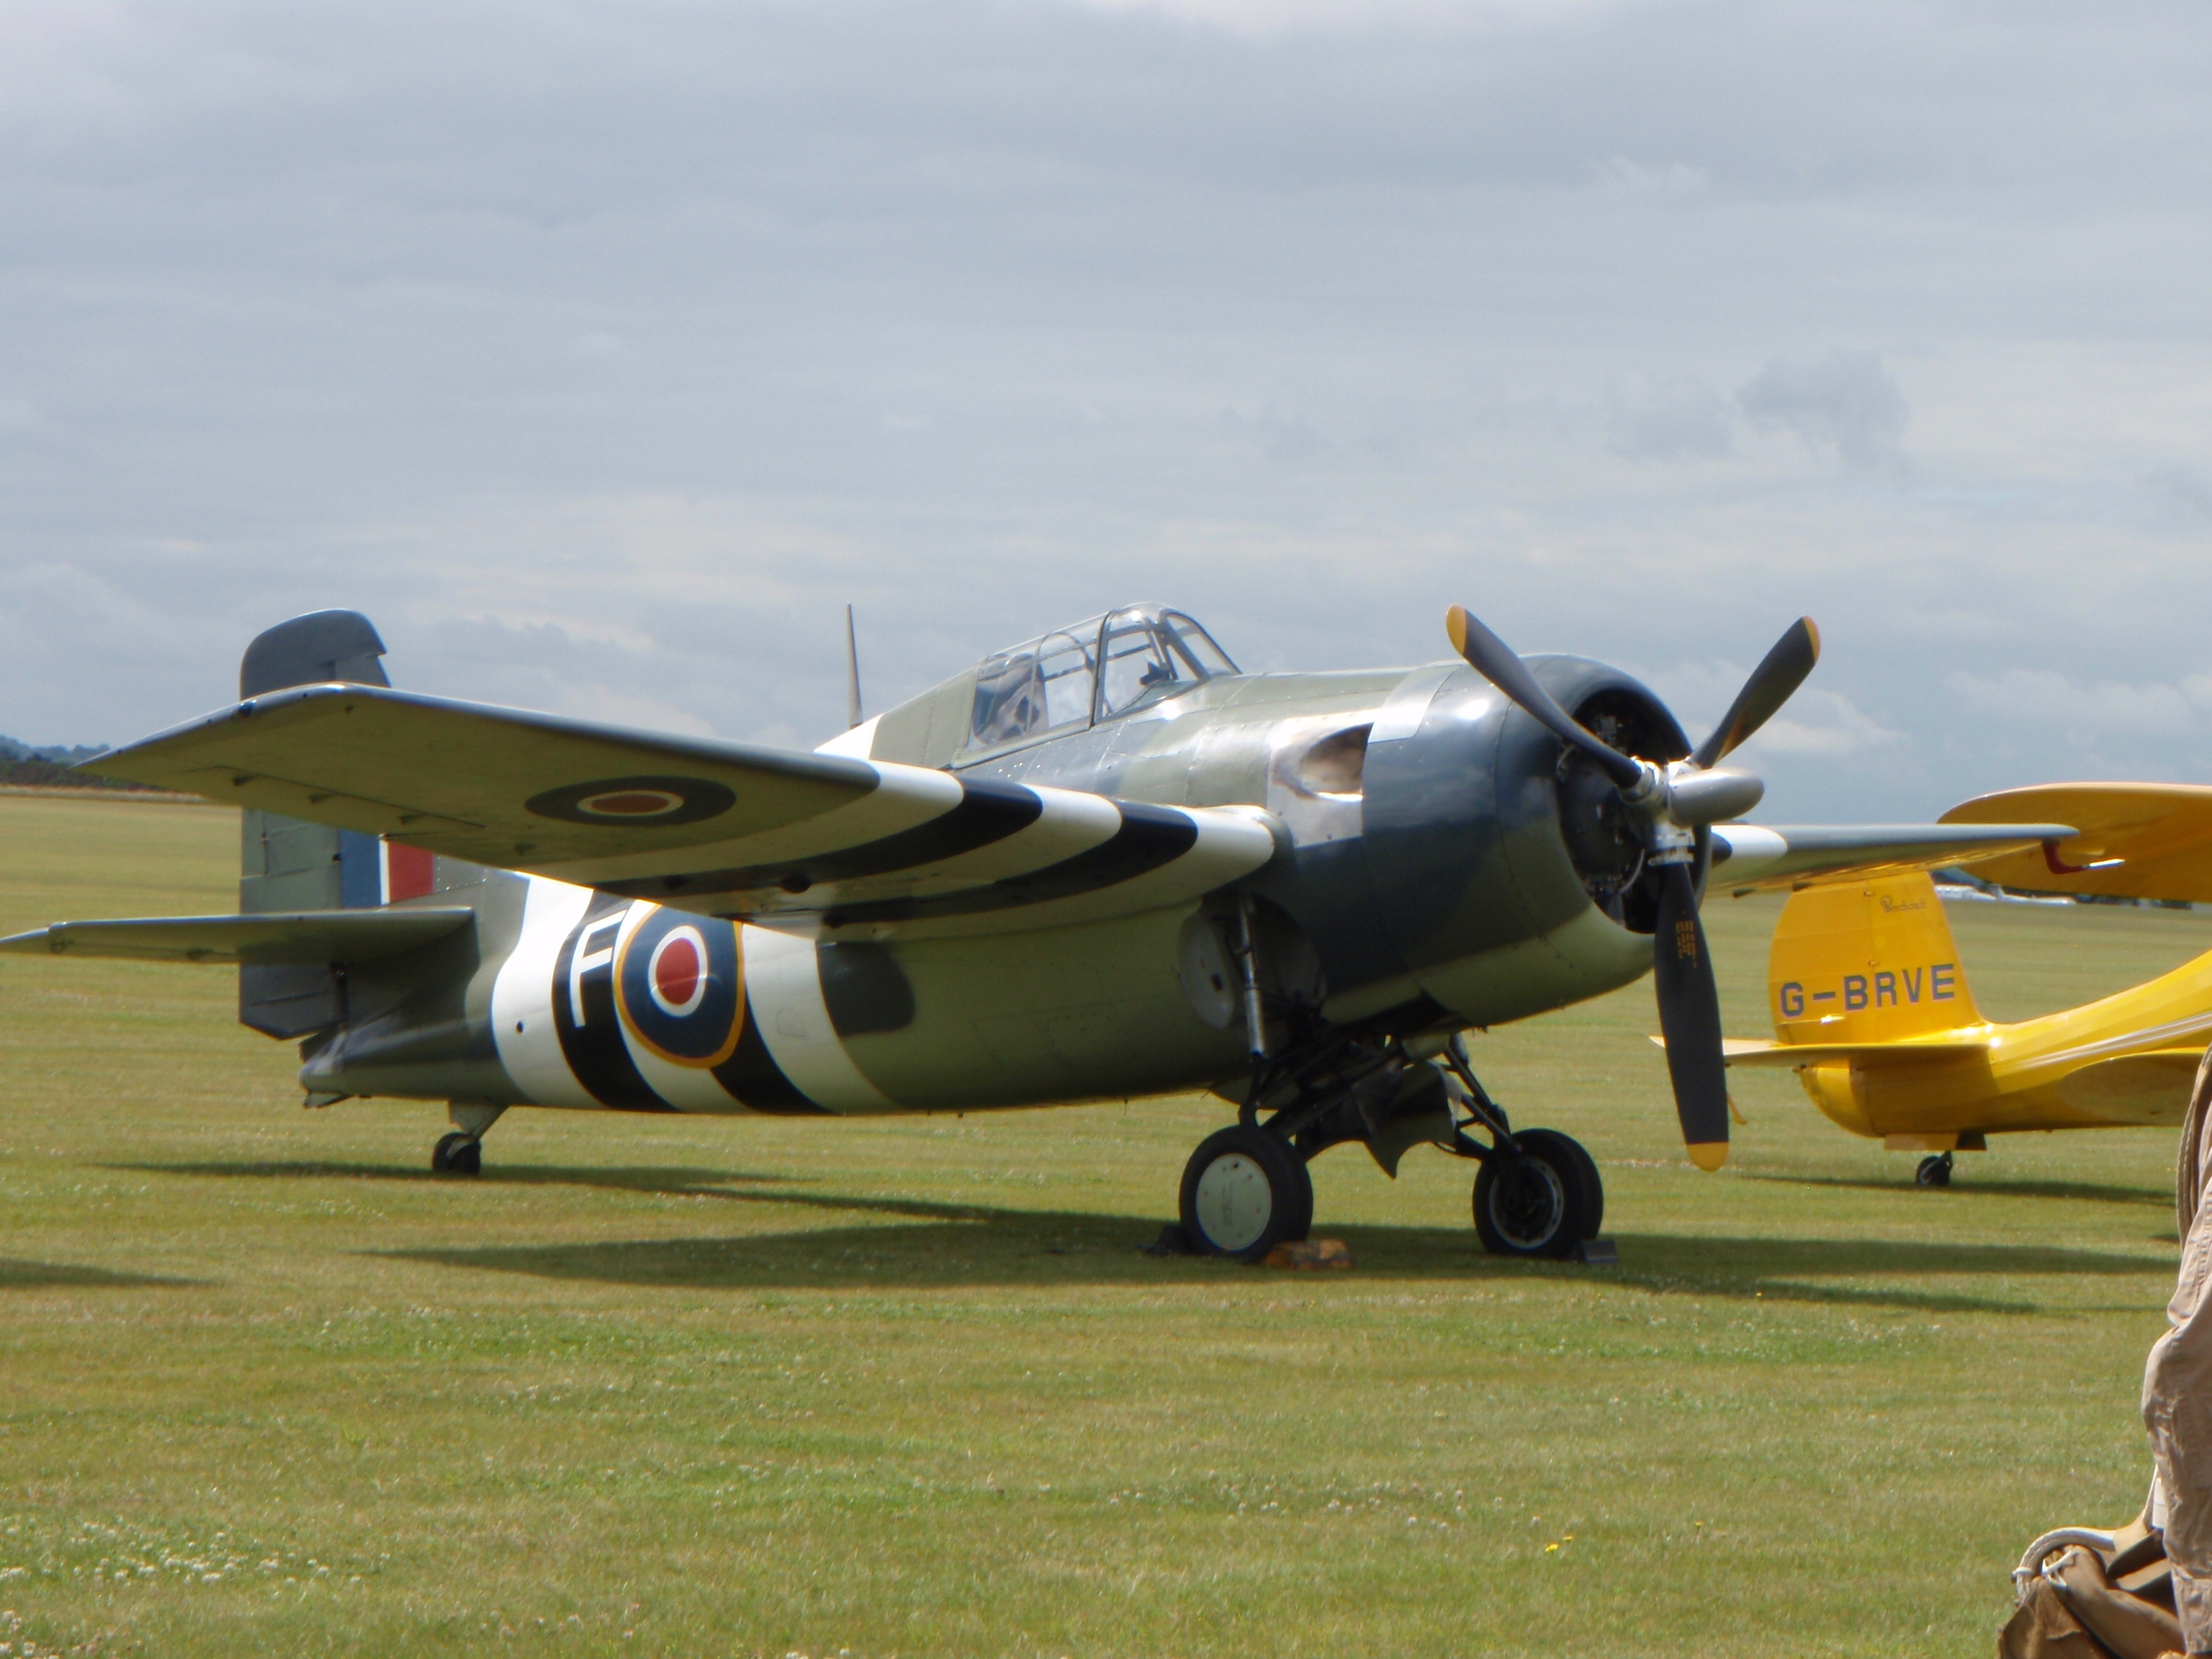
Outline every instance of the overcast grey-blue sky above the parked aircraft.
[[843, 726], [1152, 597], [1248, 668], [1460, 602], [1770, 821], [2212, 781], [2212, 13], [0, 9], [0, 732], [299, 611], [394, 681]]

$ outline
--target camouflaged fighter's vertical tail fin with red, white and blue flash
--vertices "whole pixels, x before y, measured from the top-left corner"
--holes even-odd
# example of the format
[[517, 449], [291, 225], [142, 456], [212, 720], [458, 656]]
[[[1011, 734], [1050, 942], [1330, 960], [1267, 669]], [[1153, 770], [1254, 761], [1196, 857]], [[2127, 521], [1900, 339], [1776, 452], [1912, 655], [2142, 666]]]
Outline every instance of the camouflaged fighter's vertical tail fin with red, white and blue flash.
[[[281, 622], [250, 646], [239, 664], [239, 697], [263, 697], [288, 686], [352, 681], [389, 686], [378, 657], [385, 641], [358, 611], [316, 611]], [[330, 830], [301, 818], [248, 807], [239, 869], [239, 909], [248, 916], [301, 909], [363, 909], [405, 894], [429, 891], [429, 854], [394, 849], [405, 874], [387, 867], [376, 836]], [[403, 876], [394, 883], [394, 876]], [[420, 880], [418, 880], [420, 878]], [[327, 967], [241, 967], [239, 1024], [272, 1037], [305, 1037], [345, 1020], [345, 987]]]

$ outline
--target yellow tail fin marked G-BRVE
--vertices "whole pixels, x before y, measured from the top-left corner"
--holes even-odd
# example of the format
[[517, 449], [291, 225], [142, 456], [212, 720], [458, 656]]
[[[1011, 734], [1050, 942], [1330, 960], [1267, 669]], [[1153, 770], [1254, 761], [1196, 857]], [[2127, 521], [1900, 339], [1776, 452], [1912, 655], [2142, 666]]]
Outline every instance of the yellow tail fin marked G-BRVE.
[[1896, 1042], [1982, 1024], [1927, 872], [1794, 894], [1767, 951], [1783, 1042]]

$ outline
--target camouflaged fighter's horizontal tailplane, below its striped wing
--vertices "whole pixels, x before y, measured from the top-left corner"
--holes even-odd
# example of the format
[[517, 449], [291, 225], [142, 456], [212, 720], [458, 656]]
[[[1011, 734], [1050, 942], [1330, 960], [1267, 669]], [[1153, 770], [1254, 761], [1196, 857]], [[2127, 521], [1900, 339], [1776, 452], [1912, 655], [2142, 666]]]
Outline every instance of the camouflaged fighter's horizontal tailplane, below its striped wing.
[[374, 962], [467, 927], [467, 905], [425, 909], [310, 909], [270, 916], [137, 916], [53, 922], [0, 938], [18, 956], [113, 956], [133, 962], [243, 962], [281, 967]]

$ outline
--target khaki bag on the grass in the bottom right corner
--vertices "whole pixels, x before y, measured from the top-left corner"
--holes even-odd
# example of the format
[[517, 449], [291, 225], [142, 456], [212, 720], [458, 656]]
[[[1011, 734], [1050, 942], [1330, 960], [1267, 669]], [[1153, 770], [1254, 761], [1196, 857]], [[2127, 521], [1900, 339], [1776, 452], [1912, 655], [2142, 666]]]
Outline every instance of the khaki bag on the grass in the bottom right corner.
[[2020, 1606], [1997, 1659], [2166, 1659], [2181, 1652], [2166, 1540], [2143, 1520], [2117, 1533], [2037, 1537], [2013, 1571]]

